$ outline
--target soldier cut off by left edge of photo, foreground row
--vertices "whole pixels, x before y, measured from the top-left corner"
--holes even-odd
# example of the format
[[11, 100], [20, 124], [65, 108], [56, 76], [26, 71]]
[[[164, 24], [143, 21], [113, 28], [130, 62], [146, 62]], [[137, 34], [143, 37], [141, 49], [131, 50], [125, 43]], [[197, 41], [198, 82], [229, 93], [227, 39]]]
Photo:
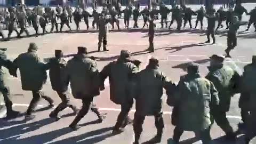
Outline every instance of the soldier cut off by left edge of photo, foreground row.
[[6, 85], [6, 73], [3, 71], [2, 67], [10, 69], [12, 62], [6, 58], [6, 49], [0, 49], [0, 92], [4, 97], [4, 103], [6, 107], [6, 119], [15, 118], [19, 115], [18, 111], [12, 109], [12, 101], [10, 100], [10, 90]]

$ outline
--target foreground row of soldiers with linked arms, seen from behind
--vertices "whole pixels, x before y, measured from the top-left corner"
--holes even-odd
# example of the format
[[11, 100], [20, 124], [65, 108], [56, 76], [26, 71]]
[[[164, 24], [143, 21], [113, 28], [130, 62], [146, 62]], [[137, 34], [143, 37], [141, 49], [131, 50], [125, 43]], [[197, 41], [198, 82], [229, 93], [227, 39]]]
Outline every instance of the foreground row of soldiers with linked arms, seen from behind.
[[[152, 26], [154, 27], [154, 25]], [[113, 128], [113, 134], [124, 131], [126, 125], [133, 124], [134, 143], [140, 143], [142, 125], [146, 116], [155, 117], [157, 134], [149, 142], [161, 142], [164, 120], [162, 111], [163, 89], [166, 90], [166, 103], [173, 107], [170, 121], [175, 126], [173, 141], [179, 143], [184, 131], [192, 131], [204, 144], [212, 139], [210, 135], [214, 121], [226, 133], [226, 140], [235, 142], [237, 135], [245, 131], [245, 143], [248, 144], [256, 135], [256, 107], [254, 98], [256, 79], [256, 56], [252, 63], [244, 67], [244, 73], [233, 66], [227, 65], [230, 58], [213, 54], [210, 57], [209, 73], [201, 77], [198, 65], [189, 63], [187, 74], [180, 77], [175, 85], [159, 69], [156, 58], [149, 60], [145, 69], [140, 69], [141, 61], [132, 58], [131, 53], [122, 50], [119, 58], [108, 63], [101, 71], [97, 68], [97, 58], [87, 55], [86, 47], [78, 47], [77, 54], [66, 61], [61, 50], [55, 50], [55, 58], [44, 63], [37, 54], [37, 45], [30, 43], [28, 51], [22, 53], [14, 61], [7, 59], [6, 49], [1, 49], [1, 67], [9, 69], [9, 73], [17, 77], [17, 69], [20, 70], [22, 90], [31, 91], [33, 99], [30, 102], [25, 119], [35, 118], [34, 109], [38, 101], [43, 98], [53, 107], [53, 100], [44, 94], [42, 87], [46, 82], [49, 71], [52, 89], [56, 91], [61, 103], [51, 113], [50, 117], [59, 121], [59, 111], [69, 107], [76, 115], [69, 125], [71, 130], [79, 129], [77, 123], [91, 109], [101, 123], [106, 114], [99, 112], [93, 104], [93, 99], [105, 90], [105, 79], [109, 78], [110, 100], [121, 105], [121, 112]], [[28, 65], [29, 63], [29, 65]], [[31, 71], [33, 69], [33, 71]], [[5, 75], [0, 73], [1, 89], [7, 109], [6, 119], [19, 116], [18, 111], [12, 110], [12, 102], [9, 99], [9, 87], [5, 84]], [[80, 99], [83, 103], [81, 109], [72, 105], [69, 101], [68, 85], [71, 87], [71, 95]], [[226, 113], [229, 111], [231, 98], [241, 93], [239, 108], [243, 123], [238, 124], [238, 130], [234, 131], [228, 122]], [[134, 119], [128, 116], [135, 101]]]

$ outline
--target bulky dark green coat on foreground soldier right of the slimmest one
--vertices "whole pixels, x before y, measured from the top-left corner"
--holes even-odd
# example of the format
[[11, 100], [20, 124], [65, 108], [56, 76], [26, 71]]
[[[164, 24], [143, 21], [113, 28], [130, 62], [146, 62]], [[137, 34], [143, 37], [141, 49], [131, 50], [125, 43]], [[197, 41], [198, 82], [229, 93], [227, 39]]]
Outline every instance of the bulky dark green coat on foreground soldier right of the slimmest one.
[[96, 61], [86, 54], [77, 54], [67, 63], [66, 81], [76, 99], [99, 95], [99, 71]]

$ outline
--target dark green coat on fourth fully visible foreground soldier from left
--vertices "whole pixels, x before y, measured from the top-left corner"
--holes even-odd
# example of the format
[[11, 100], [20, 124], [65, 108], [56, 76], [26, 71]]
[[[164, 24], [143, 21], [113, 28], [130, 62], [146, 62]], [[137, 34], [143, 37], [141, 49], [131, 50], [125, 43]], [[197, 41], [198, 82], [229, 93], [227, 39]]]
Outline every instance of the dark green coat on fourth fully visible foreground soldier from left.
[[130, 77], [138, 72], [138, 67], [122, 59], [110, 62], [100, 72], [102, 85], [107, 77], [110, 83], [110, 100], [116, 104], [123, 104], [129, 99]]

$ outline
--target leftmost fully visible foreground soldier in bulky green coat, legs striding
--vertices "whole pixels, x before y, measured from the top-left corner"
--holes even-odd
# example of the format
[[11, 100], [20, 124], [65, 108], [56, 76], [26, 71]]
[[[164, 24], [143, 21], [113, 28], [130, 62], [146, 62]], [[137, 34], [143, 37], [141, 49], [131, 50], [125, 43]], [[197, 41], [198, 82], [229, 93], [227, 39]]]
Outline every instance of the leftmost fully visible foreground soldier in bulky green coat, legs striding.
[[17, 77], [17, 69], [20, 70], [22, 90], [32, 91], [33, 99], [31, 100], [25, 119], [33, 119], [35, 115], [31, 115], [34, 111], [37, 103], [42, 97], [49, 106], [53, 107], [53, 100], [50, 97], [44, 95], [42, 88], [47, 79], [45, 70], [45, 64], [41, 61], [41, 58], [37, 54], [37, 46], [35, 43], [30, 43], [28, 52], [22, 53], [13, 61], [13, 70], [10, 73], [14, 77]]

